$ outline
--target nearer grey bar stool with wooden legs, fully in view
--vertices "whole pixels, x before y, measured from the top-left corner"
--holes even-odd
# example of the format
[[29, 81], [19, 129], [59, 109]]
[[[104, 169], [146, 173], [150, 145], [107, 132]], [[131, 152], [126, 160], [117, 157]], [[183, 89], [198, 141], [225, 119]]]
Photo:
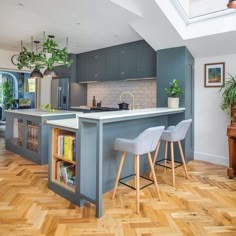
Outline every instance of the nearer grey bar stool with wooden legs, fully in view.
[[[143, 176], [139, 176], [139, 156], [142, 155], [142, 154], [147, 154], [148, 162], [149, 162], [149, 165], [150, 165], [151, 173], [153, 173], [153, 180], [154, 181], [150, 180], [146, 177], [143, 177], [143, 178], [150, 180], [152, 182], [151, 184], [153, 184], [153, 182], [154, 182], [156, 193], [157, 193], [157, 196], [160, 200], [160, 191], [159, 191], [159, 188], [158, 188], [156, 175], [154, 173], [154, 166], [152, 164], [152, 158], [151, 158], [150, 152], [155, 150], [164, 128], [165, 128], [164, 126], [148, 128], [148, 129], [144, 130], [142, 133], [140, 133], [134, 139], [116, 138], [115, 142], [114, 142], [114, 149], [117, 150], [117, 151], [121, 151], [122, 155], [121, 155], [121, 160], [120, 160], [120, 164], [119, 164], [119, 167], [118, 167], [117, 176], [116, 176], [116, 180], [115, 180], [115, 184], [114, 184], [112, 199], [115, 198], [118, 182], [120, 182], [121, 184], [124, 184], [120, 179], [120, 174], [121, 174], [121, 170], [122, 170], [123, 163], [124, 163], [124, 160], [125, 160], [126, 152], [131, 153], [131, 154], [133, 154], [133, 157], [134, 157], [134, 174], [126, 176], [126, 177], [130, 177], [130, 176], [133, 176], [133, 175], [136, 176], [135, 179], [134, 179], [135, 188], [133, 188], [132, 186], [130, 186], [128, 184], [125, 184], [125, 185], [136, 190], [136, 211], [137, 211], [138, 214], [140, 212], [140, 206], [139, 206], [139, 190], [140, 190], [139, 177], [143, 177]], [[124, 178], [126, 178], [126, 177], [124, 177]], [[122, 178], [122, 179], [124, 179], [124, 178]], [[148, 184], [144, 187], [147, 187], [149, 185], [150, 184]], [[144, 187], [142, 187], [142, 188], [144, 188]]]

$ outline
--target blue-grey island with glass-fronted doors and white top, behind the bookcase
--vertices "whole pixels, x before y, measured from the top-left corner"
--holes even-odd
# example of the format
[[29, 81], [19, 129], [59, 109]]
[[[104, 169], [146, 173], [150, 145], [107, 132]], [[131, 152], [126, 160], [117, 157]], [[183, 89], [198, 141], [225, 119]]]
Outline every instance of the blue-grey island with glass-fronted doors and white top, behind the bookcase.
[[45, 120], [75, 118], [77, 112], [36, 109], [6, 111], [6, 149], [37, 164], [48, 163], [48, 126]]

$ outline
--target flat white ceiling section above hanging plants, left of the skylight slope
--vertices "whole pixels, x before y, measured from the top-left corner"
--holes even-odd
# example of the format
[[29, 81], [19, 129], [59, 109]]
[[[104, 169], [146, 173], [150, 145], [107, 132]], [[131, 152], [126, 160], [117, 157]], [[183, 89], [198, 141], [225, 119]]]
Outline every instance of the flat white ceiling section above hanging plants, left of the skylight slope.
[[44, 31], [62, 46], [68, 37], [74, 53], [141, 39], [128, 24], [136, 16], [109, 0], [1, 0], [0, 10], [1, 49], [20, 50]]

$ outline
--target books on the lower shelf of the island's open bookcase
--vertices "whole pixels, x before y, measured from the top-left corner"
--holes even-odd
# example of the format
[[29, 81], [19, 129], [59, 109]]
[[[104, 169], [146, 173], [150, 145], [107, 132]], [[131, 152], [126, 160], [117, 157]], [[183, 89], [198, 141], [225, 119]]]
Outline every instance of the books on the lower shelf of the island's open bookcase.
[[55, 167], [55, 179], [75, 187], [75, 165], [58, 160]]

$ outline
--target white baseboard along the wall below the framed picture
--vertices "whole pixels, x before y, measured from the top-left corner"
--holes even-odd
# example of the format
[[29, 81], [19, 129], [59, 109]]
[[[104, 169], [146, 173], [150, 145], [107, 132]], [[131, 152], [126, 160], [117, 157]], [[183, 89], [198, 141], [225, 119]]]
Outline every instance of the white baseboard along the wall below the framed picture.
[[194, 152], [194, 160], [207, 161], [213, 164], [219, 164], [224, 166], [229, 165], [228, 157], [226, 158], [226, 157], [213, 156], [200, 152]]

